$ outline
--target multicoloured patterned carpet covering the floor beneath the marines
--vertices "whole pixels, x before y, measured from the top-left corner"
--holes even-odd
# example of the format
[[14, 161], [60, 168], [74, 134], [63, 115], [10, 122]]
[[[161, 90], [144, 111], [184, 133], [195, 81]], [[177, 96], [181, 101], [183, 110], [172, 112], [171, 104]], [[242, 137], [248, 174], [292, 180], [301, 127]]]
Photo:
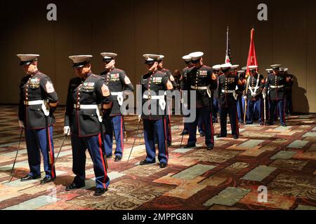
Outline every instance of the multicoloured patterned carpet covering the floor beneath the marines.
[[[139, 166], [145, 158], [142, 131], [126, 167], [137, 129], [136, 116], [126, 117], [128, 141], [121, 162], [109, 160], [110, 188], [93, 196], [93, 164], [86, 162], [86, 187], [65, 192], [72, 183], [70, 139], [56, 163], [58, 178], [40, 186], [39, 180], [21, 182], [28, 172], [23, 139], [14, 178], [7, 183], [18, 147], [17, 106], [0, 106], [0, 209], [316, 209], [316, 116], [291, 116], [288, 127], [249, 125], [238, 140], [216, 139], [213, 151], [206, 151], [204, 138], [197, 148], [180, 148], [182, 118], [172, 118], [173, 145], [169, 166]], [[63, 109], [56, 113], [55, 155], [62, 143]], [[142, 128], [142, 127], [141, 127]], [[219, 124], [215, 127], [219, 132]], [[187, 136], [183, 139], [186, 143]], [[126, 167], [126, 169], [125, 169]], [[41, 165], [41, 169], [43, 169]], [[42, 175], [43, 176], [43, 175]], [[268, 189], [268, 202], [258, 202], [258, 187]]]

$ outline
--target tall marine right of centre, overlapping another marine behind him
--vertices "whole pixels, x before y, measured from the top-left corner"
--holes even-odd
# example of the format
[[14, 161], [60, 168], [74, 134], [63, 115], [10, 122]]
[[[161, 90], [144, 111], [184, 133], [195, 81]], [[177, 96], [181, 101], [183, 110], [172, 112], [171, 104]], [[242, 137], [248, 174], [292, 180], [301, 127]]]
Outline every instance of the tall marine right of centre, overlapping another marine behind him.
[[[203, 52], [192, 52], [192, 63], [195, 64], [187, 73], [187, 86], [190, 87], [190, 91], [196, 91], [196, 119], [189, 125], [190, 137], [187, 141], [185, 148], [193, 148], [197, 142], [197, 124], [199, 119], [202, 119], [205, 129], [205, 144], [207, 150], [212, 150], [214, 147], [214, 132], [213, 121], [211, 114], [211, 90], [215, 90], [217, 87], [216, 76], [213, 74], [212, 69], [209, 66], [203, 64]], [[190, 92], [189, 92], [190, 94]], [[192, 110], [192, 108], [190, 108]]]

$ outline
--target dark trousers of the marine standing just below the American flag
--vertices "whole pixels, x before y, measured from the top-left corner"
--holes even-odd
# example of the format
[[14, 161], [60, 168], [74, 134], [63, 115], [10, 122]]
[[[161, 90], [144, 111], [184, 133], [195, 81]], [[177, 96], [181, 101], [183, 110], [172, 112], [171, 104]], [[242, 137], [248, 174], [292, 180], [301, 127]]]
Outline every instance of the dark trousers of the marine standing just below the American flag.
[[237, 105], [234, 104], [232, 106], [220, 106], [220, 135], [227, 135], [227, 116], [230, 116], [230, 126], [232, 127], [232, 135], [239, 135], [239, 127], [237, 121]]

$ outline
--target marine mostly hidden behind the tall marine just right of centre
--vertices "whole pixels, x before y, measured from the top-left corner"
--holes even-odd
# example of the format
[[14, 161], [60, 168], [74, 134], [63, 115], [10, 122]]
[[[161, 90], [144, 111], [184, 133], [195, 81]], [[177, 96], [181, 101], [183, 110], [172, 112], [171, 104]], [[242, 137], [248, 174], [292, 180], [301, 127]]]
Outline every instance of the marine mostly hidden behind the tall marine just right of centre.
[[[190, 87], [187, 86], [187, 72], [190, 70], [190, 68], [192, 68], [192, 66], [194, 66], [194, 64], [192, 64], [192, 58], [189, 55], [183, 56], [182, 59], [184, 60], [187, 66], [182, 70], [182, 75], [180, 79], [180, 91], [181, 91], [182, 99], [183, 98], [187, 99], [187, 97], [189, 97], [187, 95], [187, 91], [190, 89]], [[183, 100], [182, 102], [184, 103]], [[183, 128], [183, 132], [180, 135], [187, 135], [189, 134], [189, 123], [186, 123], [185, 121], [183, 123], [184, 123], [184, 128]]]

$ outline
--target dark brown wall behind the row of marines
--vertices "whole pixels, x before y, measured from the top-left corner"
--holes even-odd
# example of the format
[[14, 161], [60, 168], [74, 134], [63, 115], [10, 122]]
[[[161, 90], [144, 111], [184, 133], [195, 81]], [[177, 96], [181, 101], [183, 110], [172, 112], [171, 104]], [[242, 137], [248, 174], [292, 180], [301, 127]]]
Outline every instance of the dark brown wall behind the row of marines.
[[[184, 66], [181, 57], [202, 50], [205, 64], [225, 59], [226, 27], [230, 26], [232, 62], [244, 66], [251, 27], [261, 73], [271, 63], [289, 67], [296, 76], [294, 111], [316, 112], [315, 1], [211, 0], [105, 0], [55, 1], [58, 21], [46, 20], [48, 0], [6, 2], [1, 13], [0, 103], [18, 102], [22, 69], [18, 52], [38, 52], [39, 68], [55, 83], [65, 104], [67, 83], [74, 77], [69, 55], [93, 55], [93, 72], [103, 70], [100, 52], [117, 52], [117, 67], [133, 83], [146, 72], [142, 55], [166, 55], [164, 65], [174, 71]], [[257, 20], [259, 3], [268, 5], [268, 21]], [[4, 1], [1, 1], [4, 5]], [[3, 8], [3, 7], [2, 7]], [[14, 90], [14, 91], [13, 91]]]

